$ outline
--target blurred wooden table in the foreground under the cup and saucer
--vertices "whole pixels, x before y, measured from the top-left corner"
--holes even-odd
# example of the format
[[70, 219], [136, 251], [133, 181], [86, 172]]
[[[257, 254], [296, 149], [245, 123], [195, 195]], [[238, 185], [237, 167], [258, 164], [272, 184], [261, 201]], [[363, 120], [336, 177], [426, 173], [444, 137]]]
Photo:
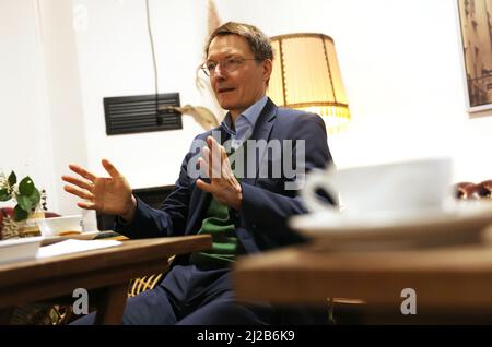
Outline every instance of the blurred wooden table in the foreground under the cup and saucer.
[[[289, 248], [241, 259], [233, 279], [244, 301], [362, 299], [370, 323], [492, 323], [490, 244], [352, 253]], [[415, 292], [417, 314], [401, 312], [406, 288]]]

